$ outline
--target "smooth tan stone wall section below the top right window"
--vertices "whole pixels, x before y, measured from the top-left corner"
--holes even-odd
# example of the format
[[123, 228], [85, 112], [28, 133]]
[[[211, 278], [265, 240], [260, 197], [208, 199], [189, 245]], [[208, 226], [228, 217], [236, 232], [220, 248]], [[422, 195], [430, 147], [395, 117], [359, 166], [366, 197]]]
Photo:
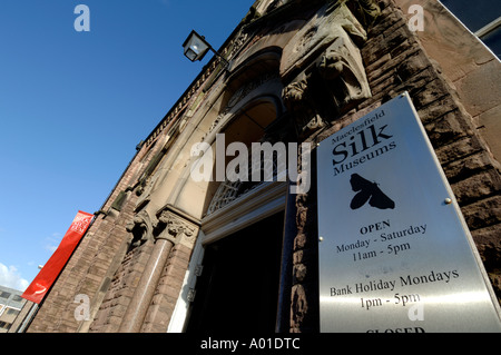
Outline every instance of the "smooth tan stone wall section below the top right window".
[[395, 0], [404, 16], [423, 8], [424, 30], [416, 32], [424, 50], [451, 80], [473, 125], [495, 157], [501, 156], [501, 61], [436, 0]]

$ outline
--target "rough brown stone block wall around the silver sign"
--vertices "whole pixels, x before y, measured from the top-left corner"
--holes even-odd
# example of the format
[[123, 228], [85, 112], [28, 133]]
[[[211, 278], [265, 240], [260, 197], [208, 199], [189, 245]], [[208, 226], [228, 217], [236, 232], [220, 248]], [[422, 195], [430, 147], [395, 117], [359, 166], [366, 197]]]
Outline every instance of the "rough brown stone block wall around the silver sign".
[[[320, 142], [382, 102], [409, 91], [472, 231], [494, 292], [501, 297], [500, 165], [461, 105], [450, 80], [442, 75], [438, 62], [426, 55], [415, 33], [410, 31], [404, 13], [392, 0], [379, 1], [379, 4], [381, 16], [361, 47], [372, 98], [343, 117], [334, 118], [306, 140]], [[312, 189], [307, 196], [296, 198], [298, 233], [294, 241], [291, 332], [318, 329], [315, 298], [318, 259], [317, 254], [311, 253], [317, 244], [314, 194]], [[310, 257], [304, 258], [303, 255]]]

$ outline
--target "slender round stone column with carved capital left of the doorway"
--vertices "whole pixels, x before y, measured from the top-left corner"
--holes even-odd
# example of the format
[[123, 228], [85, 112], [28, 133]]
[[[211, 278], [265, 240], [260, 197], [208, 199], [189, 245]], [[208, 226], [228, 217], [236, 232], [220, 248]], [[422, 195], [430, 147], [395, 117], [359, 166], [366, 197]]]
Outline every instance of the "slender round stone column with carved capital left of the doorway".
[[155, 247], [121, 321], [119, 333], [138, 333], [141, 329], [170, 250], [195, 231], [196, 226], [183, 218], [179, 211], [176, 213], [174, 207], [161, 210], [155, 226]]

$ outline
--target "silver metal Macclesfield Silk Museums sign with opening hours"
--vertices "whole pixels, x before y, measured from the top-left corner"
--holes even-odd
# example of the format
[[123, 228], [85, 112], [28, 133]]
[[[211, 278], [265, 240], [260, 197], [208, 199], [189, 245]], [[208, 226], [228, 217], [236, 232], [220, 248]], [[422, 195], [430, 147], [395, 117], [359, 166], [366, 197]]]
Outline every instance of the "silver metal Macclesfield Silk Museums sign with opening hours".
[[407, 93], [323, 140], [317, 166], [322, 332], [501, 332]]

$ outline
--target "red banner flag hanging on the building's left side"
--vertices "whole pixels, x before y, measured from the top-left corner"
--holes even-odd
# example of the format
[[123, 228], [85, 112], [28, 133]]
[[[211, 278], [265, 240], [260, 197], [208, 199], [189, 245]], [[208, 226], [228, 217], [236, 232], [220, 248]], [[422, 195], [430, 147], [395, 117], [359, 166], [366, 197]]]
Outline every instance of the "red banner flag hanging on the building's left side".
[[40, 273], [31, 282], [30, 286], [22, 294], [22, 298], [29, 299], [39, 304], [47, 292], [52, 286], [56, 278], [61, 273], [66, 263], [70, 258], [81, 237], [89, 227], [94, 215], [78, 211], [68, 231], [65, 234], [59, 247], [52, 254], [50, 259], [42, 267]]

